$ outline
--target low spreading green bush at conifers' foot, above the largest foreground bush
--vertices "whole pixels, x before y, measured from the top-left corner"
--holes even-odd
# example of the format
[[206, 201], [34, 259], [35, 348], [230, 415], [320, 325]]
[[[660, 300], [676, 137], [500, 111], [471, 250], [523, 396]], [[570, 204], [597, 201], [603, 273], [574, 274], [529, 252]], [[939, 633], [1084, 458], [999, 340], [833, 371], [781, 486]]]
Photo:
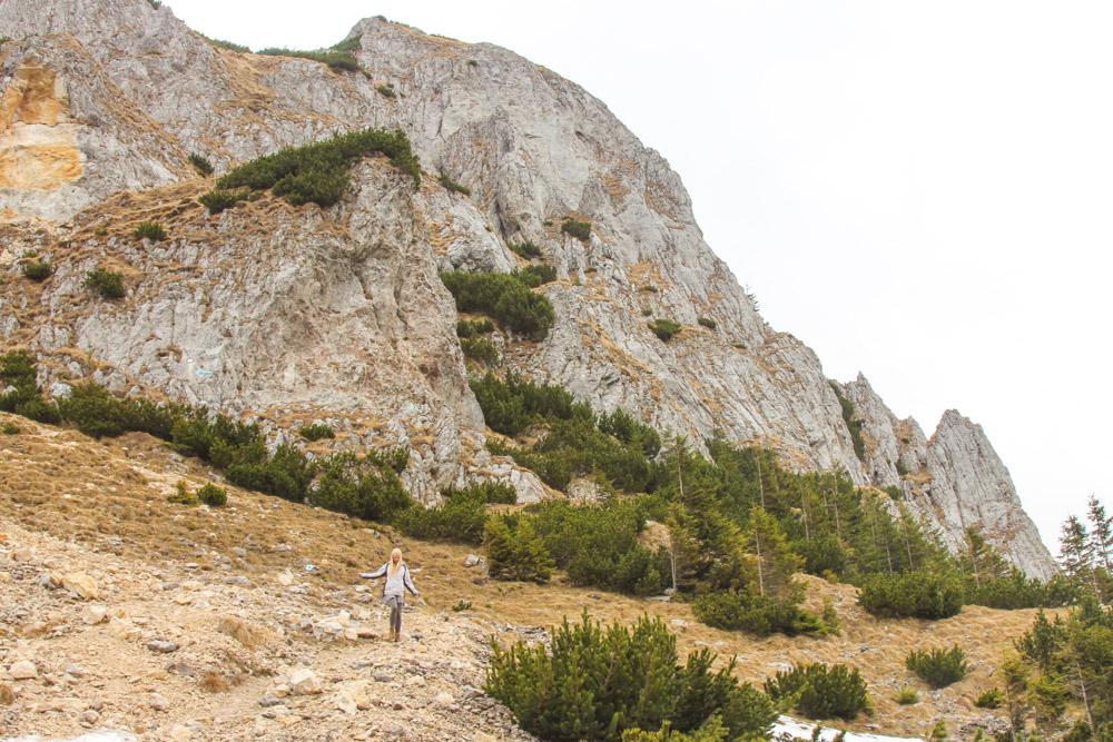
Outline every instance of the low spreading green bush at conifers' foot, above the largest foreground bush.
[[775, 600], [746, 590], [716, 591], [697, 597], [692, 613], [709, 626], [748, 631], [758, 636], [775, 632], [787, 636], [824, 633], [819, 616], [799, 607], [798, 602], [796, 596]]

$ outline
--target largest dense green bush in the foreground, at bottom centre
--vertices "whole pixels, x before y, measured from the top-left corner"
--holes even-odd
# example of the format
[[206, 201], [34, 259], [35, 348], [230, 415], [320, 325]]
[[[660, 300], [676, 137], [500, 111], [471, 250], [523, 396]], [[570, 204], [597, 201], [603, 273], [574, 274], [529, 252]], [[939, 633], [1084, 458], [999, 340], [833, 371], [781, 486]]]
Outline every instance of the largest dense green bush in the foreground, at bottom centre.
[[[713, 672], [713, 660], [703, 650], [681, 665], [676, 636], [659, 619], [603, 629], [584, 613], [582, 623], [555, 627], [551, 646], [496, 645], [484, 689], [524, 730], [556, 742], [620, 740], [628, 730], [628, 739], [678, 741], [686, 738], [644, 734], [687, 733], [716, 716], [731, 739], [766, 736], [776, 719], [771, 703], [738, 685], [732, 661]], [[723, 739], [716, 734], [695, 739]]]

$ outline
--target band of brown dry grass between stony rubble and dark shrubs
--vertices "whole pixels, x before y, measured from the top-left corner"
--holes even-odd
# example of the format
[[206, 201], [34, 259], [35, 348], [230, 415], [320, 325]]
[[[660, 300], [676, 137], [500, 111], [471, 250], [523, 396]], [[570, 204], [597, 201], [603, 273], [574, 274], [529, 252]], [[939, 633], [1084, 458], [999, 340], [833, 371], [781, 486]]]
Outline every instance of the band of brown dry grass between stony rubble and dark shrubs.
[[[574, 619], [584, 609], [595, 619], [622, 622], [648, 612], [667, 622], [679, 620], [670, 625], [682, 651], [710, 645], [722, 657], [737, 655], [739, 676], [755, 682], [798, 661], [857, 666], [876, 705], [873, 718], [854, 725], [858, 729], [926, 735], [939, 719], [953, 732], [971, 722], [992, 721], [995, 713], [976, 709], [974, 699], [994, 685], [1002, 652], [1035, 613], [969, 606], [945, 621], [879, 620], [856, 605], [854, 587], [804, 577], [808, 606], [821, 610], [829, 598], [841, 634], [757, 640], [705, 626], [683, 603], [577, 588], [560, 577], [549, 586], [487, 582], [463, 566], [466, 547], [402, 538], [388, 527], [235, 487], [229, 487], [226, 508], [173, 505], [166, 497], [179, 479], [195, 487], [217, 475], [141, 434], [95, 442], [0, 414], [0, 425], [4, 423], [18, 425], [21, 434], [0, 436], [0, 531], [9, 522], [148, 563], [194, 562], [203, 572], [219, 566], [213, 557], [246, 546], [246, 561], [257, 570], [302, 570], [312, 561], [322, 587], [356, 582], [359, 571], [376, 566], [393, 543], [401, 543], [429, 603], [423, 610], [443, 611], [464, 600], [472, 603], [469, 613], [485, 621], [534, 626]], [[248, 647], [269, 641], [234, 622], [220, 631]], [[966, 651], [971, 673], [951, 687], [930, 691], [904, 666], [912, 649], [952, 644]], [[894, 698], [905, 686], [917, 689], [920, 703], [897, 706]]]

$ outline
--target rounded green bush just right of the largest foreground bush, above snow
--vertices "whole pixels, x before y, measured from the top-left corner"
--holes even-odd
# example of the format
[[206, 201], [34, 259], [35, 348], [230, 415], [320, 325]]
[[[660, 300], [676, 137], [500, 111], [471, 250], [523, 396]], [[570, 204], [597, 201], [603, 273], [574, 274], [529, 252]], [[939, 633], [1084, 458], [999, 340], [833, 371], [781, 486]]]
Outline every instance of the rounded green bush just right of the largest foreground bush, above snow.
[[843, 664], [796, 664], [767, 680], [765, 689], [774, 701], [790, 703], [809, 719], [850, 720], [868, 708], [866, 682], [857, 669]]

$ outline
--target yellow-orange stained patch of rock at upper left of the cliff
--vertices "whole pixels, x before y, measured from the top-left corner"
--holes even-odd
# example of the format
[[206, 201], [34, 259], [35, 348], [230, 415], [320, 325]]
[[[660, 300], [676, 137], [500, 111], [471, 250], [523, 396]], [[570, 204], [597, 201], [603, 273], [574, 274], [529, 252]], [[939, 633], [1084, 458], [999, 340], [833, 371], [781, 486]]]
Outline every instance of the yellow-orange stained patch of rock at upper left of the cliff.
[[85, 156], [55, 71], [23, 65], [0, 98], [0, 188], [53, 190], [81, 177]]

